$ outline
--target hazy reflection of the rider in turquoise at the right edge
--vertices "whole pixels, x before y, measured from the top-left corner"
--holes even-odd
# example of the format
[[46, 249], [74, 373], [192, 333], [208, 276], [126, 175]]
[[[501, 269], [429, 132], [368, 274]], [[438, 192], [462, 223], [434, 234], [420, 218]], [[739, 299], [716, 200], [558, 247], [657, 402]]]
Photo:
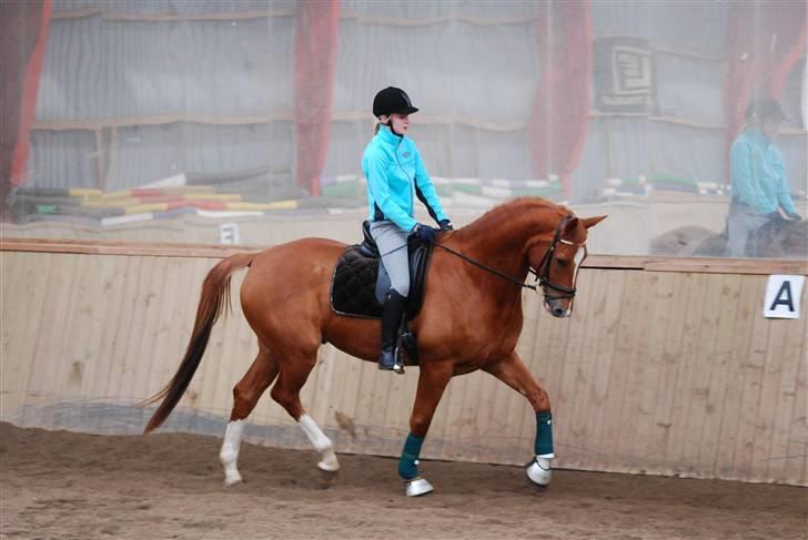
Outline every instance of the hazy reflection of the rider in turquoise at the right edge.
[[747, 256], [749, 235], [770, 220], [801, 220], [786, 180], [782, 154], [775, 145], [784, 114], [774, 100], [753, 101], [745, 112], [746, 129], [729, 152], [733, 196], [727, 216], [731, 257]]

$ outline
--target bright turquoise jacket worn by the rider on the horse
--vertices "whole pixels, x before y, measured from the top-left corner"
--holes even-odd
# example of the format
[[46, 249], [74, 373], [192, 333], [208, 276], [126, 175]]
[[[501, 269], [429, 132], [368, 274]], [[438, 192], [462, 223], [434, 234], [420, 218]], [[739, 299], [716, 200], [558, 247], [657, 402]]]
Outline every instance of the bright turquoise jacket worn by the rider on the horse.
[[436, 222], [446, 220], [415, 143], [383, 125], [362, 157], [367, 179], [371, 221], [390, 220], [404, 231], [415, 228], [413, 198], [418, 197]]

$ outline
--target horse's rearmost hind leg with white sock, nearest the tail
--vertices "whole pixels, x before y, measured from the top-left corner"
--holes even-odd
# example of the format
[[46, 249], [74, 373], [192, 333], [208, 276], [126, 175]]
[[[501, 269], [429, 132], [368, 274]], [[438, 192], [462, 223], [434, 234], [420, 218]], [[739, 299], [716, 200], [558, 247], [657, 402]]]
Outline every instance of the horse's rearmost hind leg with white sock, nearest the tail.
[[255, 408], [264, 390], [277, 377], [277, 361], [271, 356], [270, 350], [259, 345], [259, 354], [252, 366], [233, 387], [233, 410], [224, 431], [222, 450], [219, 452], [219, 459], [224, 467], [224, 483], [228, 486], [241, 481], [238, 460], [245, 419]]

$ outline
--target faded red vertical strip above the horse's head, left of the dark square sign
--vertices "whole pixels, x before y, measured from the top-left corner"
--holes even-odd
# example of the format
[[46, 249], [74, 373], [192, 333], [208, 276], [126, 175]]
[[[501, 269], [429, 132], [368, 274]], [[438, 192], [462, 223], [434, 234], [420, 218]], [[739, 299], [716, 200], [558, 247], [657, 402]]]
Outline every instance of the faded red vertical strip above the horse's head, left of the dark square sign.
[[589, 0], [542, 3], [538, 47], [542, 73], [528, 128], [533, 174], [558, 174], [569, 196], [569, 176], [584, 149], [589, 114]]

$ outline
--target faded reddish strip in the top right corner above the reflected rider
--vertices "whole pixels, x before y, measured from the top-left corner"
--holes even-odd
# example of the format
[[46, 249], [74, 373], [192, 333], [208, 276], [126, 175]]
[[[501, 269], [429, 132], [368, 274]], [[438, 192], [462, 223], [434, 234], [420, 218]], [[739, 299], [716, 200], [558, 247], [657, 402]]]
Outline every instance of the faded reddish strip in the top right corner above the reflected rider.
[[[727, 18], [725, 155], [729, 155], [733, 141], [744, 128], [744, 111], [749, 101], [780, 99], [788, 73], [805, 54], [806, 2], [730, 2]], [[729, 183], [728, 162], [726, 171]]]

